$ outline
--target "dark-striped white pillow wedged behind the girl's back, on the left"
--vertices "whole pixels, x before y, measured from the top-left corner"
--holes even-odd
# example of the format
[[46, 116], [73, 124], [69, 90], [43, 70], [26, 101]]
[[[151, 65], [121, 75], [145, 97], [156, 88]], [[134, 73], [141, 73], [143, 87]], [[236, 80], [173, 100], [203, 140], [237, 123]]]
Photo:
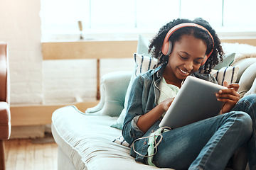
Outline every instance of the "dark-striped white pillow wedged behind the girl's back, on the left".
[[129, 99], [129, 94], [132, 89], [132, 84], [133, 84], [134, 78], [137, 77], [139, 74], [147, 72], [149, 69], [153, 69], [154, 65], [157, 63], [157, 60], [153, 57], [147, 57], [144, 55], [134, 54], [134, 62], [135, 62], [134, 74], [132, 74], [132, 77], [129, 82], [129, 86], [127, 88], [127, 94], [125, 96], [125, 101], [124, 101], [124, 109], [122, 110], [121, 114], [119, 115], [119, 118], [117, 119], [117, 121], [111, 125], [112, 128], [118, 128], [118, 129], [122, 130], [125, 114], [127, 111], [127, 103], [128, 103], [128, 99]]

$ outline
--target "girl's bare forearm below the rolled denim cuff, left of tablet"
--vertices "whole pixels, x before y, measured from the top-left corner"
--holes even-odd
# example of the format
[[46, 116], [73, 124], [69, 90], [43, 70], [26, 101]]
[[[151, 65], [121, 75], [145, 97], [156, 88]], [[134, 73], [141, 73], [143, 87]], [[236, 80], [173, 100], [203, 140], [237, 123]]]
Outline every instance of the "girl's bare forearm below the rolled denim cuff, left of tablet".
[[140, 116], [137, 122], [138, 128], [142, 130], [142, 132], [149, 130], [149, 128], [151, 128], [151, 126], [154, 125], [159, 118], [161, 118], [161, 115], [168, 110], [173, 100], [174, 98], [169, 98], [166, 101], [159, 103], [159, 105], [148, 113]]

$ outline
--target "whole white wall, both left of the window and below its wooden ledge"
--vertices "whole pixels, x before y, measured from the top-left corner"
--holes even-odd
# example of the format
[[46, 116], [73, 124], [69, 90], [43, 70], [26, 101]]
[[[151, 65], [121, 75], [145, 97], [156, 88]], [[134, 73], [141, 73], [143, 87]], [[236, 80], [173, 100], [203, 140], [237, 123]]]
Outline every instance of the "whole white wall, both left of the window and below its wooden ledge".
[[[9, 45], [11, 104], [95, 100], [96, 60], [42, 60], [40, 11], [40, 0], [0, 0], [0, 41]], [[101, 76], [130, 71], [132, 54], [128, 60], [102, 60], [100, 66]]]

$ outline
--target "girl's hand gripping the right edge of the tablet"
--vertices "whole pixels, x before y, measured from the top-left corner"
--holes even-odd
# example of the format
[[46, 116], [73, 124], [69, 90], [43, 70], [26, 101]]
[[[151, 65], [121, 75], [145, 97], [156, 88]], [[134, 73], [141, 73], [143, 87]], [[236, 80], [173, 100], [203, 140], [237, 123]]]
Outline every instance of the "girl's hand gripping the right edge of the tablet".
[[221, 109], [221, 114], [228, 113], [239, 101], [239, 84], [228, 84], [227, 81], [224, 81], [223, 86], [228, 87], [228, 89], [220, 90], [216, 94], [217, 100], [224, 102], [223, 108]]

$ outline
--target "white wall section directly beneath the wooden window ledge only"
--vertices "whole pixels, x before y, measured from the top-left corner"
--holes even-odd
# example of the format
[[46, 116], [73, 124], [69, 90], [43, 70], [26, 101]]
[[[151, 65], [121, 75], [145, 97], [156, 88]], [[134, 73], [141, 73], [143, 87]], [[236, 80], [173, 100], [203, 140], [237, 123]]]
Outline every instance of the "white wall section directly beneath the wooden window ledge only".
[[[133, 61], [100, 60], [100, 77], [109, 72], [132, 71]], [[74, 103], [96, 100], [96, 60], [43, 61], [43, 103]]]

